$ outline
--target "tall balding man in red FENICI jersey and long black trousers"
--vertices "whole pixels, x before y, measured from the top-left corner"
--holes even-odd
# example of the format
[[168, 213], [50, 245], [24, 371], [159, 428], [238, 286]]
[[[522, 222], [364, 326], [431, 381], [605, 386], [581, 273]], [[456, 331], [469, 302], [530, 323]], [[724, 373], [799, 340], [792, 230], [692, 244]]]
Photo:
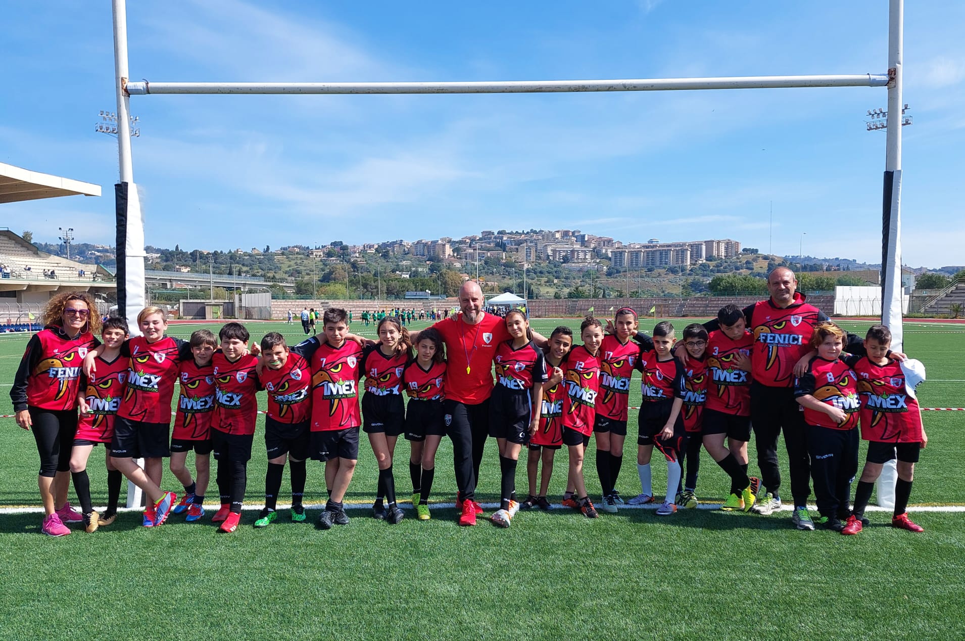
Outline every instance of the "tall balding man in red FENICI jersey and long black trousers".
[[[797, 278], [787, 267], [767, 275], [767, 300], [744, 308], [744, 319], [754, 335], [751, 353], [751, 424], [758, 449], [761, 488], [752, 509], [769, 515], [781, 509], [781, 469], [778, 436], [784, 429], [790, 492], [794, 499], [791, 521], [799, 530], [813, 530], [808, 514], [811, 495], [811, 460], [808, 456], [804, 415], [794, 399], [794, 366], [806, 354], [814, 325], [828, 317], [797, 292]], [[719, 328], [717, 320], [703, 323], [707, 331]], [[845, 351], [864, 354], [861, 337], [847, 334]]]

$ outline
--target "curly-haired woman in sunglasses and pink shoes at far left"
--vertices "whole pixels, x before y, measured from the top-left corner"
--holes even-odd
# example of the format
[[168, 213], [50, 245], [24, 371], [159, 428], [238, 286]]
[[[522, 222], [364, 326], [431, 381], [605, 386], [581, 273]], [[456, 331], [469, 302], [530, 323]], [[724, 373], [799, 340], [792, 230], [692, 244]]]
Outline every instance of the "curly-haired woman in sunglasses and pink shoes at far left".
[[[70, 534], [64, 524], [83, 516], [67, 500], [70, 449], [77, 432], [80, 363], [99, 342], [96, 302], [89, 293], [61, 293], [43, 310], [43, 329], [31, 337], [10, 390], [16, 424], [34, 432], [41, 455], [38, 486], [43, 501], [43, 534]], [[59, 508], [57, 506], [60, 506]]]

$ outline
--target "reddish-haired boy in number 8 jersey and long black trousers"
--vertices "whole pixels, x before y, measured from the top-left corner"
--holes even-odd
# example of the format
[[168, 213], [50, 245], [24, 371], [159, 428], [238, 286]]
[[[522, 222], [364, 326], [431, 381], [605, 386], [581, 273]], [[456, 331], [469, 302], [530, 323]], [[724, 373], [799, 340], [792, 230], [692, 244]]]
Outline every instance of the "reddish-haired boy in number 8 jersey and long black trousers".
[[850, 515], [848, 496], [858, 471], [857, 376], [842, 361], [844, 331], [830, 321], [814, 325], [811, 346], [817, 350], [803, 376], [794, 383], [794, 396], [804, 407], [814, 498], [820, 521], [841, 532], [841, 519]]

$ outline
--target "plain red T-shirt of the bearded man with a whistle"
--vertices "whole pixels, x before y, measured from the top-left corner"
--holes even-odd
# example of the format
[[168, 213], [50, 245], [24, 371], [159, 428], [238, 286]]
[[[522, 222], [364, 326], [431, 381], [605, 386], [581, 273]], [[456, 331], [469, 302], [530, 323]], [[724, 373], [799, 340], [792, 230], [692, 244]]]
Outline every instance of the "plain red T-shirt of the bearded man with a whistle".
[[[465, 404], [480, 404], [492, 394], [492, 360], [496, 347], [510, 340], [506, 321], [486, 314], [475, 325], [456, 315], [432, 327], [446, 344], [446, 398]], [[468, 359], [467, 359], [468, 356]], [[469, 372], [466, 372], [469, 368]]]

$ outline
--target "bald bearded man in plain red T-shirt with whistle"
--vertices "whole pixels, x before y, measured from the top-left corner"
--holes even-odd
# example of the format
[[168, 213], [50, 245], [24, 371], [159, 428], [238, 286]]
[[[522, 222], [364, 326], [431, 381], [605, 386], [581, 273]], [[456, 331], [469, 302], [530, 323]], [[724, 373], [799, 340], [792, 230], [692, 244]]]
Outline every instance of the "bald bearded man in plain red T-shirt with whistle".
[[[446, 428], [453, 440], [455, 504], [459, 525], [476, 525], [483, 508], [476, 501], [476, 483], [489, 434], [489, 395], [492, 393], [492, 360], [496, 348], [510, 340], [506, 321], [483, 311], [479, 283], [466, 281], [459, 288], [460, 314], [437, 321], [432, 328], [446, 344], [446, 398], [443, 401]], [[546, 339], [533, 332], [539, 347]], [[419, 333], [411, 335], [419, 343]]]

